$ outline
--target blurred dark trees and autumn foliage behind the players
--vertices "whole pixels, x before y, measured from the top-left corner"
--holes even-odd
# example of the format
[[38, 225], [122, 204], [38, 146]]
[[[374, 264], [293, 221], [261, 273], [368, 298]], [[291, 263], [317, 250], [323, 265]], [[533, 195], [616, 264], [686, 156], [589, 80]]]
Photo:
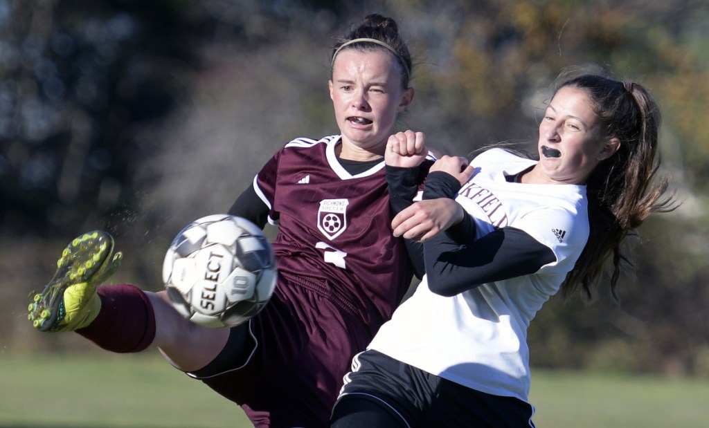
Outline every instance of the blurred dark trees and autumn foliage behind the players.
[[709, 376], [705, 0], [0, 0], [0, 352], [94, 349], [26, 320], [75, 235], [110, 230], [115, 281], [158, 290], [186, 223], [227, 210], [287, 140], [337, 133], [330, 47], [374, 12], [415, 57], [399, 128], [442, 153], [534, 140], [566, 67], [652, 91], [681, 208], [642, 226], [620, 305], [605, 289], [546, 305], [532, 363]]

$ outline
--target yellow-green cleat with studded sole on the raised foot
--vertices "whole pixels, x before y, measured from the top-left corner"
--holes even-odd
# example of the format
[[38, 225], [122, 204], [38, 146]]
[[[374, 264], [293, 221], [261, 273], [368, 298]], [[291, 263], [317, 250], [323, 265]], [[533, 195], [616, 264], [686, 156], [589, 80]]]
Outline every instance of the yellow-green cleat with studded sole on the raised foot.
[[113, 237], [100, 230], [70, 242], [57, 261], [52, 281], [28, 307], [33, 326], [43, 332], [69, 332], [91, 324], [101, 309], [96, 286], [121, 265], [123, 254], [111, 254]]

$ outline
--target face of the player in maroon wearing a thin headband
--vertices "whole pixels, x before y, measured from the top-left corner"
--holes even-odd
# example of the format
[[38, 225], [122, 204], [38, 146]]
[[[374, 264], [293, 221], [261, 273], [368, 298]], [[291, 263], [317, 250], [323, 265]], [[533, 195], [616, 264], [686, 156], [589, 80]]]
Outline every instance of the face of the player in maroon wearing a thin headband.
[[413, 89], [401, 88], [395, 61], [381, 50], [345, 49], [335, 57], [330, 98], [345, 159], [383, 156], [396, 115], [411, 103]]

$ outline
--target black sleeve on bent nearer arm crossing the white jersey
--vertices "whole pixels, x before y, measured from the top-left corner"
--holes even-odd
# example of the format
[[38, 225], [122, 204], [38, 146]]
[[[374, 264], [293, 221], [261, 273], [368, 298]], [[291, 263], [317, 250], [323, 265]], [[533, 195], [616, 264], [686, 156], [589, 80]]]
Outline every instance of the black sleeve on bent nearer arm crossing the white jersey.
[[453, 296], [483, 283], [534, 274], [556, 261], [552, 249], [516, 227], [501, 227], [460, 245], [445, 234], [423, 245], [428, 286]]

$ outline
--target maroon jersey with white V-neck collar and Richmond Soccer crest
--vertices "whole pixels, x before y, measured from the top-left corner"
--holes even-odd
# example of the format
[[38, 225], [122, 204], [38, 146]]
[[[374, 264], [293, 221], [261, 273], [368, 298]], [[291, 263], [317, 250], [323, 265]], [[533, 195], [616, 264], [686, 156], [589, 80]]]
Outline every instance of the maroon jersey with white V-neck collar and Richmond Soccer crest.
[[259, 171], [255, 191], [278, 225], [280, 271], [321, 278], [373, 330], [411, 283], [403, 240], [391, 231], [384, 159], [352, 175], [335, 155], [340, 135], [299, 138]]

